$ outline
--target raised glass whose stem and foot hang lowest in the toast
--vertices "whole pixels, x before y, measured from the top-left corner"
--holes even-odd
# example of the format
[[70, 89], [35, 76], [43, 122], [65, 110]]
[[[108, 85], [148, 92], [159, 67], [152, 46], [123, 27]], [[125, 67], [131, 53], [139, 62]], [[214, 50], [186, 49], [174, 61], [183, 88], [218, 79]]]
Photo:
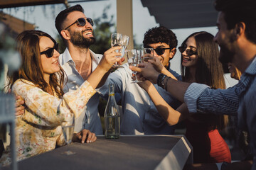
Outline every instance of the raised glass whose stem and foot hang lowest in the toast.
[[[127, 50], [126, 56], [129, 65], [137, 66], [139, 64], [139, 55], [137, 54], [137, 50]], [[142, 82], [137, 79], [136, 74], [137, 72], [132, 71], [132, 76], [135, 77], [135, 80], [132, 80], [132, 84]]]

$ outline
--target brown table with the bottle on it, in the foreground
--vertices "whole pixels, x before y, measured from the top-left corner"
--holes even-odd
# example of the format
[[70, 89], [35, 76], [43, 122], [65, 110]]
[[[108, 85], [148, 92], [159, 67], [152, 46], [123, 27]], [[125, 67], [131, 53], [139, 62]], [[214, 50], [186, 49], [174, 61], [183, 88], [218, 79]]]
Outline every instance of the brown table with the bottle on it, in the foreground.
[[[182, 135], [122, 135], [117, 140], [98, 136], [90, 144], [67, 146], [18, 162], [18, 169], [183, 169], [192, 164], [192, 149]], [[4, 168], [8, 169], [8, 168]]]

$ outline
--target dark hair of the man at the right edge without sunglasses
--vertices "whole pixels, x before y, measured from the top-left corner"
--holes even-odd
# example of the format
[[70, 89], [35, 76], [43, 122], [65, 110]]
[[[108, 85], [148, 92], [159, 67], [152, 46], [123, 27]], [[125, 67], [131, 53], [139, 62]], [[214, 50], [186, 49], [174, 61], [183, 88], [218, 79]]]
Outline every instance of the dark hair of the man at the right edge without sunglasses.
[[256, 1], [215, 0], [215, 9], [224, 13], [228, 29], [239, 22], [245, 23], [245, 36], [256, 44]]

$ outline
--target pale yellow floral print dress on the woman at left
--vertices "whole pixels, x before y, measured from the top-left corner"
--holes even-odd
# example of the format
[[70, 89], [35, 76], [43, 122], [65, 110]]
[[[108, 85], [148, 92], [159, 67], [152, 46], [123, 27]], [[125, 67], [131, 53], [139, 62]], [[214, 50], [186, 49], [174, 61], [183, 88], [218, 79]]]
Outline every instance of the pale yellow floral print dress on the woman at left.
[[[41, 154], [65, 144], [60, 123], [65, 113], [78, 117], [95, 89], [85, 81], [79, 89], [70, 90], [58, 98], [36, 87], [30, 81], [18, 79], [12, 88], [26, 104], [25, 113], [16, 118], [17, 160]], [[0, 159], [0, 164], [10, 164], [10, 149]]]

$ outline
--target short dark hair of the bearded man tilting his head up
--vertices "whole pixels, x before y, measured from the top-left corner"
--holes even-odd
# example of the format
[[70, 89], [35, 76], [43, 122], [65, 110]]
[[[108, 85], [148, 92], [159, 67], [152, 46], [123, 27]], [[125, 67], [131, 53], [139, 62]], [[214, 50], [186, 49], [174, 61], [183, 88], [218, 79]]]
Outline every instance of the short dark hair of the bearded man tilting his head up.
[[[69, 8], [65, 8], [63, 11], [60, 11], [58, 13], [58, 16], [55, 18], [55, 27], [58, 30], [58, 33], [60, 34], [61, 30], [63, 30], [63, 22], [67, 18], [68, 14], [73, 11], [80, 11], [84, 13], [84, 9], [80, 5], [71, 6]], [[62, 35], [60, 34], [62, 37]]]

